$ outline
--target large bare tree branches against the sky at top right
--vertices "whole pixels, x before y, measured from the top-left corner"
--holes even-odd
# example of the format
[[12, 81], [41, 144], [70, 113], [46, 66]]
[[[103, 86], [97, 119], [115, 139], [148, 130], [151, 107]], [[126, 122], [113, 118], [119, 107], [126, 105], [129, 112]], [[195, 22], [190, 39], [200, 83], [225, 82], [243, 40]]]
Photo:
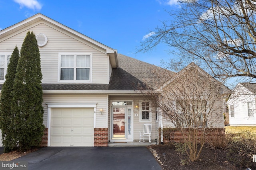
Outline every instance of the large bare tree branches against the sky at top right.
[[181, 0], [169, 14], [138, 51], [165, 43], [214, 77], [256, 78], [255, 0]]

